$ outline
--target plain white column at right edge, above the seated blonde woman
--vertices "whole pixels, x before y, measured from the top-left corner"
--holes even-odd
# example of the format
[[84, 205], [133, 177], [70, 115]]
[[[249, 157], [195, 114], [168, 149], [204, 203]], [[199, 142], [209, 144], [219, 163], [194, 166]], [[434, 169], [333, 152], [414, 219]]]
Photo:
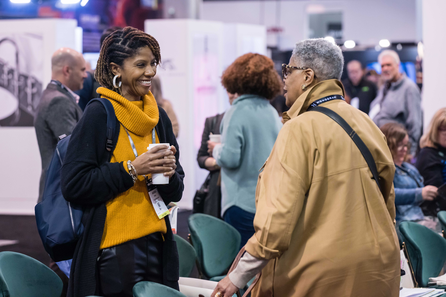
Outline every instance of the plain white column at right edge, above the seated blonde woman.
[[444, 85], [446, 82], [446, 1], [423, 0], [423, 99], [424, 131], [434, 113], [446, 106]]

